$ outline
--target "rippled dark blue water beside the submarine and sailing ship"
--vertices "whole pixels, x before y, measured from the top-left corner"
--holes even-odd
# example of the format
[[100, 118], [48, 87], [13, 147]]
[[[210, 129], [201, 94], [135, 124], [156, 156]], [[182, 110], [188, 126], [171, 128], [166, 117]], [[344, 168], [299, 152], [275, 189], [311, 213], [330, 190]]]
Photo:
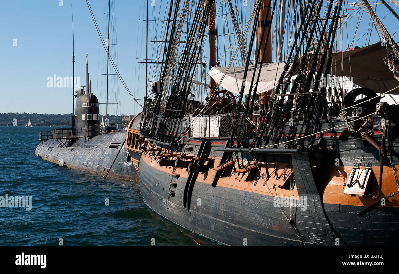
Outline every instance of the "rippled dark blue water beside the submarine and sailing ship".
[[150, 213], [138, 174], [133, 181], [103, 182], [36, 156], [38, 132], [48, 130], [0, 127], [0, 206], [1, 196], [32, 197], [30, 210], [27, 204], [0, 207], [0, 246], [58, 246], [60, 238], [64, 246], [149, 246], [152, 239], [157, 246], [203, 244]]

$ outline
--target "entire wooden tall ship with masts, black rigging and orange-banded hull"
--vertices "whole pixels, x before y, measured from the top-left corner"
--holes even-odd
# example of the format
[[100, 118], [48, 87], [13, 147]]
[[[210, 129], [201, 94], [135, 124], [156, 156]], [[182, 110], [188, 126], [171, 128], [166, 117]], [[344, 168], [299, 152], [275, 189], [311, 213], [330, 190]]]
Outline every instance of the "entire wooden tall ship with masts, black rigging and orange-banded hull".
[[391, 2], [170, 1], [140, 124], [149, 209], [223, 245], [399, 244]]

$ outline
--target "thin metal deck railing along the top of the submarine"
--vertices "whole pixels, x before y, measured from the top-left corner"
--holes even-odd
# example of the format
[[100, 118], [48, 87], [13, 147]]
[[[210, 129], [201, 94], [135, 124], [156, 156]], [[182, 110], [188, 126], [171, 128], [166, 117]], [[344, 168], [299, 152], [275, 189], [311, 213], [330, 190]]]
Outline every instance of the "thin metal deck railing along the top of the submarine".
[[72, 130], [72, 128], [54, 128], [52, 131], [40, 131], [39, 140], [92, 137], [106, 133], [105, 128], [75, 128], [75, 130]]

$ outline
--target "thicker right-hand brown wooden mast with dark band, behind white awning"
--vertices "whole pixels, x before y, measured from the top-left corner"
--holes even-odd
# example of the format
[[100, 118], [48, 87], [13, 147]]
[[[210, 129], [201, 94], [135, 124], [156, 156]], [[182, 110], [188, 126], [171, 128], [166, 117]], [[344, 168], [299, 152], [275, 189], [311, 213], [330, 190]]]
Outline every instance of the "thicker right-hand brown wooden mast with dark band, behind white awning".
[[[271, 62], [272, 61], [272, 35], [269, 35], [269, 39], [266, 41], [267, 34], [269, 33], [269, 28], [271, 28], [271, 14], [269, 9], [269, 0], [262, 0], [261, 1], [261, 10], [259, 11], [259, 20], [258, 20], [258, 41], [260, 43], [261, 41], [261, 35], [263, 33], [263, 29], [265, 28], [264, 36], [263, 37], [263, 42], [260, 47], [260, 52], [259, 52], [259, 61], [263, 62]], [[263, 57], [263, 53], [266, 51], [265, 56]], [[262, 60], [263, 57], [263, 60]], [[273, 90], [271, 90], [273, 91]], [[259, 99], [261, 101], [261, 108], [265, 108], [266, 104], [269, 104], [270, 102], [270, 97], [267, 95], [271, 93], [271, 91], [267, 93], [260, 93], [259, 94]]]

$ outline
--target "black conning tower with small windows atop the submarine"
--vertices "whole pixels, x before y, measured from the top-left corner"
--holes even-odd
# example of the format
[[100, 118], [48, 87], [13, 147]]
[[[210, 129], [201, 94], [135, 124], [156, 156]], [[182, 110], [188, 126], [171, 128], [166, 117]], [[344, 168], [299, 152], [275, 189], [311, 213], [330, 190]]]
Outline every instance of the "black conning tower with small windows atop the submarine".
[[100, 122], [100, 107], [97, 97], [83, 88], [77, 91], [76, 137], [91, 137], [104, 133]]

